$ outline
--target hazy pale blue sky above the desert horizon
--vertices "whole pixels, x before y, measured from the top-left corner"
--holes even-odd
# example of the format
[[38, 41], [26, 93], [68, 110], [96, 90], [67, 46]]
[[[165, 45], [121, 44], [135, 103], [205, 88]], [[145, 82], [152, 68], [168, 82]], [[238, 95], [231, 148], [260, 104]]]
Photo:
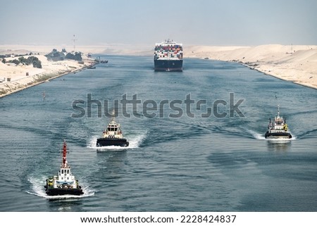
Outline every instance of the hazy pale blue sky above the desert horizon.
[[317, 44], [316, 0], [0, 0], [0, 44]]

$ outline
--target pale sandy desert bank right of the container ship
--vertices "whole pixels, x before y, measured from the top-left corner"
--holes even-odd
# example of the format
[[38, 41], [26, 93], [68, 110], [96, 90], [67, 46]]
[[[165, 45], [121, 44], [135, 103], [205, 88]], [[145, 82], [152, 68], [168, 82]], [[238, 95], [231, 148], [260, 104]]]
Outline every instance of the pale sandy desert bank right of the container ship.
[[282, 80], [317, 89], [317, 46], [187, 46], [184, 56], [235, 61]]

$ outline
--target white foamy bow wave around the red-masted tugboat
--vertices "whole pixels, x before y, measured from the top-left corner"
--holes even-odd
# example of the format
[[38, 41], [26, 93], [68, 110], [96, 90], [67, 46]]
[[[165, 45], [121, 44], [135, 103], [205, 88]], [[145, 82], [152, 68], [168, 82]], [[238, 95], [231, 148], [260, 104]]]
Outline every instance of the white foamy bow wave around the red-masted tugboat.
[[36, 177], [29, 177], [28, 181], [32, 184], [31, 191], [25, 191], [28, 194], [32, 194], [35, 196], [40, 196], [45, 199], [73, 199], [73, 198], [83, 198], [87, 196], [93, 196], [94, 190], [90, 189], [89, 186], [86, 186], [85, 182], [81, 183], [82, 186], [82, 194], [81, 196], [75, 196], [75, 195], [63, 195], [63, 196], [48, 196], [45, 193], [44, 185], [46, 183], [46, 177], [42, 178], [36, 178]]

